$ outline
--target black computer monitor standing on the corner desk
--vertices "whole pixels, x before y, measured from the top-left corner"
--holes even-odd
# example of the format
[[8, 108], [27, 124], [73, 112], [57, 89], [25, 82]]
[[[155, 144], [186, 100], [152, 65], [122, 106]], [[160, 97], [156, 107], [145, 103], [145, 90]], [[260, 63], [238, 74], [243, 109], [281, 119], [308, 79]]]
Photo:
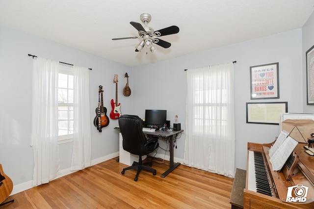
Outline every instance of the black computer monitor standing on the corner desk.
[[145, 127], [162, 127], [167, 120], [167, 110], [146, 109], [145, 110]]

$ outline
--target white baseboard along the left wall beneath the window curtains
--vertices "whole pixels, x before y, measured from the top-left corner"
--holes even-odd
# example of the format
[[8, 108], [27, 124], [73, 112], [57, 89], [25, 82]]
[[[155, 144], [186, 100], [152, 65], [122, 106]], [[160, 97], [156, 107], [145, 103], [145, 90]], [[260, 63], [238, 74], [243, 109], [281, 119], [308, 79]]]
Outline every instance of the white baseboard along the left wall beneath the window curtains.
[[[112, 159], [112, 158], [118, 157], [118, 156], [119, 156], [119, 152], [115, 152], [115, 153], [112, 153], [112, 154], [107, 155], [107, 156], [104, 156], [104, 157], [99, 157], [99, 158], [97, 158], [97, 159], [93, 159], [93, 160], [91, 161], [91, 165], [96, 165], [96, 164], [98, 164], [98, 163], [104, 162], [104, 161], [106, 161], [106, 160], [108, 160], [108, 159]], [[60, 178], [60, 177], [63, 177], [63, 176], [72, 174], [72, 173], [77, 172], [77, 171], [71, 171], [70, 168], [67, 168], [67, 169], [61, 170], [60, 172], [61, 172], [60, 175], [58, 175], [58, 176], [57, 176], [56, 178], [54, 178], [54, 179], [58, 179], [58, 178]], [[54, 180], [54, 179], [53, 179], [53, 180]], [[52, 181], [52, 180], [51, 180], [51, 181]], [[25, 190], [27, 190], [27, 189], [30, 189], [30, 188], [32, 188], [32, 187], [34, 187], [33, 184], [32, 184], [32, 182], [33, 182], [33, 181], [31, 180], [31, 181], [28, 181], [28, 182], [25, 182], [25, 183], [20, 183], [20, 184], [18, 184], [18, 185], [13, 185], [13, 190], [12, 190], [10, 196], [11, 196], [11, 195], [14, 195], [14, 194], [17, 194], [17, 193], [19, 193], [19, 192], [25, 191]]]

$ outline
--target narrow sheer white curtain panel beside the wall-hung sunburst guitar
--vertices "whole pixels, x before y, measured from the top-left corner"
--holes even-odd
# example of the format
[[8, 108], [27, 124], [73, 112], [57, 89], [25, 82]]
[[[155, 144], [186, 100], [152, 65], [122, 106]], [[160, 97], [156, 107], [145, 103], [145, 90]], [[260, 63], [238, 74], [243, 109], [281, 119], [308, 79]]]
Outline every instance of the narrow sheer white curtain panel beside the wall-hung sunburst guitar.
[[89, 69], [74, 66], [73, 70], [74, 137], [71, 170], [80, 170], [91, 165]]

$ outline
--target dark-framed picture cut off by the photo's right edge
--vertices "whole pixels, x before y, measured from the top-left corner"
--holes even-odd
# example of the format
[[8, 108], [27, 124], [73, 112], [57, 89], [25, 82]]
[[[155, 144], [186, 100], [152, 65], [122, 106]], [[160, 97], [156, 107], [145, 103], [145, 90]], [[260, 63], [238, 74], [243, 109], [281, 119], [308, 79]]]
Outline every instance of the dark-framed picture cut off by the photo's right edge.
[[306, 52], [306, 104], [314, 105], [314, 46]]

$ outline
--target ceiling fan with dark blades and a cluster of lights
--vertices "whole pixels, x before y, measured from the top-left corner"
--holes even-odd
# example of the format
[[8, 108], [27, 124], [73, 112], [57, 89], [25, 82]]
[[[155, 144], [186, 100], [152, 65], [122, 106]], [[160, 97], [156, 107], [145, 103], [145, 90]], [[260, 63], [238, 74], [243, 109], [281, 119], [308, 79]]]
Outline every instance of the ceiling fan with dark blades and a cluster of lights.
[[152, 16], [150, 14], [143, 13], [140, 15], [140, 19], [144, 23], [144, 26], [142, 26], [140, 23], [130, 22], [130, 24], [138, 30], [139, 37], [135, 36], [125, 38], [113, 38], [112, 40], [142, 38], [140, 43], [135, 47], [135, 52], [141, 52], [144, 46], [149, 48], [151, 52], [155, 52], [156, 47], [154, 46], [154, 44], [157, 44], [163, 48], [169, 48], [171, 46], [169, 42], [163, 41], [157, 37], [178, 33], [179, 32], [178, 26], [169, 26], [154, 31], [152, 27], [148, 26], [148, 23], [152, 20]]

